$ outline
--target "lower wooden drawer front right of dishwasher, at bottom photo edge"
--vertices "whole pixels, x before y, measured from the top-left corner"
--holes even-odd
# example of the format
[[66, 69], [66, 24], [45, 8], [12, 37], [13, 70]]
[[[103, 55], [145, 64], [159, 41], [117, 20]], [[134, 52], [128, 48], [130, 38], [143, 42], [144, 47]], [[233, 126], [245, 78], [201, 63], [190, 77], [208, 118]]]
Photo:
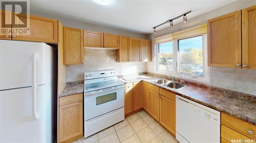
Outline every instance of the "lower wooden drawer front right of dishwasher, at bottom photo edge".
[[224, 139], [226, 139], [229, 142], [233, 142], [232, 140], [234, 139], [249, 139], [249, 137], [234, 131], [224, 125], [221, 125], [221, 137], [223, 137]]

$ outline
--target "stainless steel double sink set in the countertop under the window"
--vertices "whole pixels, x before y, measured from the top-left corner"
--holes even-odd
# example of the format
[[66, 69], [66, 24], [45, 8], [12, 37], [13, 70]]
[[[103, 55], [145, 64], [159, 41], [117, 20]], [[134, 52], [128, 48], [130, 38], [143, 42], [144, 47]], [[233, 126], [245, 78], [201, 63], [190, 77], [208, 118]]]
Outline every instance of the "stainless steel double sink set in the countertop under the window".
[[177, 81], [167, 80], [167, 79], [156, 79], [153, 82], [161, 84], [167, 88], [173, 90], [180, 90], [186, 87], [185, 84], [178, 83]]

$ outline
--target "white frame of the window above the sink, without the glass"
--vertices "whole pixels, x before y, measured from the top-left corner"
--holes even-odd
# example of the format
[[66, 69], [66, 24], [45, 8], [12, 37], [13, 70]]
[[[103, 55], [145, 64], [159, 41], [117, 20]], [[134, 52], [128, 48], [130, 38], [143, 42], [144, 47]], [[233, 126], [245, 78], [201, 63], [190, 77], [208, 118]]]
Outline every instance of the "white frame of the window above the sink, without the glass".
[[[179, 72], [179, 45], [178, 45], [178, 40], [182, 39], [188, 39], [188, 38], [193, 38], [197, 36], [202, 36], [203, 38], [203, 76], [198, 76], [194, 74], [189, 74], [189, 73], [182, 73], [182, 78], [183, 79], [188, 79], [188, 80], [195, 80], [203, 83], [209, 83], [210, 82], [210, 73], [209, 73], [209, 67], [207, 67], [207, 34], [199, 34], [199, 35], [194, 35], [194, 36], [189, 36], [189, 37], [184, 37], [184, 38], [179, 38], [171, 41], [165, 41], [161, 43], [156, 43], [155, 44], [155, 73], [158, 74], [164, 74], [164, 75], [170, 75], [170, 76], [175, 76], [179, 77], [181, 76], [181, 72]], [[159, 62], [159, 57], [158, 57], [158, 52], [159, 52], [159, 44], [162, 43], [167, 43], [167, 42], [173, 42], [173, 71], [167, 71], [167, 70], [159, 70], [158, 69], [158, 62]]]

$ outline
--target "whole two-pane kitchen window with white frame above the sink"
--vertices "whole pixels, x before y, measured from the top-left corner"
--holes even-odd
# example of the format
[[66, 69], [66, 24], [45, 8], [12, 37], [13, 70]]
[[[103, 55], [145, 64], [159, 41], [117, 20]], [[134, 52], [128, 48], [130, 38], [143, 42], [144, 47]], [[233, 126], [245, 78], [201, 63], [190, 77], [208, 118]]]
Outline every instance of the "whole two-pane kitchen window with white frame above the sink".
[[206, 34], [156, 44], [155, 72], [209, 82]]

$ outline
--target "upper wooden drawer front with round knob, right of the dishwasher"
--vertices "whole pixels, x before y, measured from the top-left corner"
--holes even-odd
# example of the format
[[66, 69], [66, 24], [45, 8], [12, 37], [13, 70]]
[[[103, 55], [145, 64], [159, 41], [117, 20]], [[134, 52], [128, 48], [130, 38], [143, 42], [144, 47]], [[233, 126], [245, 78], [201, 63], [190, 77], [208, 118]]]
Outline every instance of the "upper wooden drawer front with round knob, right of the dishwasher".
[[221, 124], [241, 134], [256, 139], [256, 126], [236, 117], [221, 112]]

